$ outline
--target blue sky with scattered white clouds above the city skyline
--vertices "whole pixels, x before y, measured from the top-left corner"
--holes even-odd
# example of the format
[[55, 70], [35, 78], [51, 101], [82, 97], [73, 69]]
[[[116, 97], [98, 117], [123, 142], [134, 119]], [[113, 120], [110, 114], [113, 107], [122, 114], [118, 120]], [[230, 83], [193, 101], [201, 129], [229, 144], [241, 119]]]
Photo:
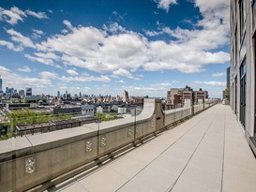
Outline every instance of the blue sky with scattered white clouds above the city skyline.
[[0, 0], [3, 86], [34, 94], [220, 97], [230, 63], [229, 1]]

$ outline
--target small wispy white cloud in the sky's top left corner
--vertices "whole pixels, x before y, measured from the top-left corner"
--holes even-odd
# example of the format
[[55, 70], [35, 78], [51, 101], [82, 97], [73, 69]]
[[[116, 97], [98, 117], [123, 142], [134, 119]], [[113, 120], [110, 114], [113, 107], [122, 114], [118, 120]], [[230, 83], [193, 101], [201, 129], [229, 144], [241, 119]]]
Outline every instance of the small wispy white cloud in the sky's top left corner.
[[27, 16], [33, 16], [38, 19], [48, 18], [45, 12], [35, 12], [29, 9], [23, 11], [18, 7], [11, 7], [10, 9], [0, 7], [0, 22], [8, 22], [11, 25], [15, 25], [18, 22], [23, 22]]

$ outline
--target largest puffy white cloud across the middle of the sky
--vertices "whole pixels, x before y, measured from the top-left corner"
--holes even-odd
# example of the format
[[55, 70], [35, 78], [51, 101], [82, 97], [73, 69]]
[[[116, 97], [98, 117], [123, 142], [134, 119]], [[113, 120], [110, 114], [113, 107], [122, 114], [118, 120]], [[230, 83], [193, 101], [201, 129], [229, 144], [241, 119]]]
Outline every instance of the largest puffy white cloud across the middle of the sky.
[[[179, 28], [171, 30], [165, 27], [163, 33], [170, 33], [180, 40], [149, 41], [134, 32], [108, 34], [110, 28], [107, 26], [103, 26], [107, 31], [101, 31], [95, 27], [73, 27], [68, 21], [66, 24], [72, 27], [68, 34], [49, 37], [37, 44], [38, 49], [60, 53], [60, 60], [65, 65], [79, 66], [100, 73], [118, 71], [120, 68], [132, 72], [143, 68], [149, 71], [176, 69], [193, 73], [203, 71], [204, 65], [223, 64], [230, 58], [227, 52], [210, 52], [211, 49], [226, 43], [225, 39], [221, 38], [223, 34], [217, 34], [222, 39], [219, 40], [207, 38], [208, 31]], [[113, 32], [124, 29], [118, 23], [113, 26]]]

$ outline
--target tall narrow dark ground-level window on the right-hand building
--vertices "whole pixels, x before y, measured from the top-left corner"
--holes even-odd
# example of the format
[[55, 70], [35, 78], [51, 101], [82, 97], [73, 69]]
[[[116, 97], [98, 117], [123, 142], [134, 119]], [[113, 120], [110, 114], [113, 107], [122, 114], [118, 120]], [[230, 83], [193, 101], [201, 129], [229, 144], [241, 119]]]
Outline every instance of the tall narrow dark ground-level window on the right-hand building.
[[247, 66], [246, 59], [240, 67], [240, 122], [246, 127]]

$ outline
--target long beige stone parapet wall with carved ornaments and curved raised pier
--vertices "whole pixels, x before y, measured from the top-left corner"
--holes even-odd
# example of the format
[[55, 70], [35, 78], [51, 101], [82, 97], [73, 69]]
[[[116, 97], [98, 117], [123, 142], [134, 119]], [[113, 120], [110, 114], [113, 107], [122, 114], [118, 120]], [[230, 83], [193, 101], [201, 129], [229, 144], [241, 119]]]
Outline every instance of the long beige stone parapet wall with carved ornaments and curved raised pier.
[[1, 191], [24, 191], [47, 182], [51, 185], [54, 178], [97, 162], [99, 157], [211, 105], [164, 113], [161, 100], [145, 99], [143, 112], [136, 117], [1, 141]]

